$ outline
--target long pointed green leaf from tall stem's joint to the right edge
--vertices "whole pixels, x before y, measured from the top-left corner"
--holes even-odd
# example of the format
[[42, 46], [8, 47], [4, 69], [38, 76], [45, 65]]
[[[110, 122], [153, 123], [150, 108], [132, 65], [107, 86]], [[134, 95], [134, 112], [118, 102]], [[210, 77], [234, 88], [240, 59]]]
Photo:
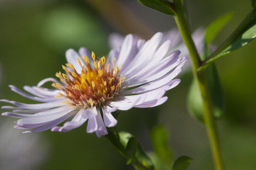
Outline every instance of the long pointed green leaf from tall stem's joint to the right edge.
[[206, 68], [210, 63], [216, 59], [230, 54], [238, 50], [239, 48], [245, 46], [248, 42], [252, 41], [256, 37], [256, 9], [253, 8], [250, 13], [245, 17], [241, 24], [236, 28], [236, 30], [222, 43], [222, 45], [213, 52], [213, 54], [208, 57], [203, 62], [203, 65], [197, 69], [200, 71]]

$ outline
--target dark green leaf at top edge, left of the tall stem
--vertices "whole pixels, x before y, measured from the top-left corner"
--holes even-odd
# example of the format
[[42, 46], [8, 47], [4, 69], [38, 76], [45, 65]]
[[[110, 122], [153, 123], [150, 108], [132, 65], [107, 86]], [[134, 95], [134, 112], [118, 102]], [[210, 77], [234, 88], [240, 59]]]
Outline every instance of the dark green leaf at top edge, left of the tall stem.
[[167, 15], [176, 15], [176, 12], [172, 8], [173, 5], [169, 0], [138, 0], [142, 5], [148, 8], [155, 9]]

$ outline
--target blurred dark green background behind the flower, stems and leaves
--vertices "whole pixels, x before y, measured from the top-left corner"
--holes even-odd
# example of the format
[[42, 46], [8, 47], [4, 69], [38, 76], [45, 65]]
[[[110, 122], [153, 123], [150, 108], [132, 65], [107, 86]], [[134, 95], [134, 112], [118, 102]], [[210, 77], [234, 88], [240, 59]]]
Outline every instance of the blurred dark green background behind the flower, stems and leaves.
[[[214, 40], [216, 45], [251, 8], [250, 0], [187, 1], [192, 30], [207, 26], [225, 12], [234, 12]], [[174, 27], [173, 17], [137, 0], [0, 0], [0, 98], [32, 103], [10, 91], [8, 85], [22, 88], [54, 77], [66, 63], [68, 48], [85, 46], [102, 56], [110, 50], [108, 35], [112, 32], [135, 33], [147, 39]], [[227, 170], [256, 167], [255, 47], [256, 41], [252, 41], [216, 61], [226, 102], [218, 130]], [[179, 77], [182, 82], [166, 93], [169, 100], [161, 106], [120, 111], [117, 129], [134, 134], [150, 152], [150, 131], [163, 124], [174, 158], [184, 154], [195, 158], [188, 170], [213, 170], [205, 127], [192, 119], [186, 108], [192, 74], [188, 71]], [[85, 125], [68, 133], [48, 130], [22, 135], [21, 130], [12, 128], [12, 121], [15, 119], [0, 117], [0, 170], [133, 169], [106, 138], [87, 134]]]

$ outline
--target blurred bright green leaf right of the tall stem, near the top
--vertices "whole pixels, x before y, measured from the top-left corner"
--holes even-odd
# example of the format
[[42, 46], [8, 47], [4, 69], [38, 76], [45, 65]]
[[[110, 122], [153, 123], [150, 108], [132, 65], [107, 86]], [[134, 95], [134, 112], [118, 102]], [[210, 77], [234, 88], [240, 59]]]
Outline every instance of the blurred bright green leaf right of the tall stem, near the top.
[[222, 30], [222, 28], [230, 21], [232, 17], [232, 13], [226, 13], [215, 19], [209, 26], [207, 26], [205, 31], [206, 45], [213, 41], [215, 36]]

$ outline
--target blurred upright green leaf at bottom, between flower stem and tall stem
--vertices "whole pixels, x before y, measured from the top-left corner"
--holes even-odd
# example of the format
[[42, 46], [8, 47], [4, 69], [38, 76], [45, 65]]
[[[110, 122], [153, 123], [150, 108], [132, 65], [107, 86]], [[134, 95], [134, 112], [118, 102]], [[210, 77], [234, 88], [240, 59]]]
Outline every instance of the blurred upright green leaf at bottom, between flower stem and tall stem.
[[151, 139], [156, 156], [168, 167], [171, 167], [172, 152], [168, 146], [168, 135], [163, 125], [155, 126], [151, 132]]

